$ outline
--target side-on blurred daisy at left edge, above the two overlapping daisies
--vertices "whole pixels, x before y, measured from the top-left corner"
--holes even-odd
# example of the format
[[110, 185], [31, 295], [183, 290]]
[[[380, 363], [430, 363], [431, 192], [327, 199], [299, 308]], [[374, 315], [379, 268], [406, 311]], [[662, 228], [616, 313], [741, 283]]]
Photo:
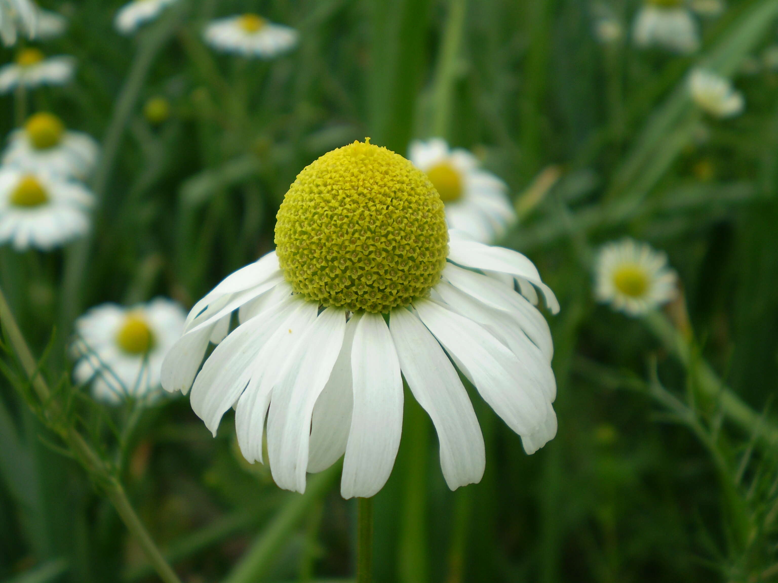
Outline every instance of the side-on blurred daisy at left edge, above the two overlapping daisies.
[[0, 93], [9, 93], [19, 85], [65, 85], [74, 73], [75, 58], [46, 58], [37, 48], [26, 48], [16, 56], [16, 62], [0, 67]]

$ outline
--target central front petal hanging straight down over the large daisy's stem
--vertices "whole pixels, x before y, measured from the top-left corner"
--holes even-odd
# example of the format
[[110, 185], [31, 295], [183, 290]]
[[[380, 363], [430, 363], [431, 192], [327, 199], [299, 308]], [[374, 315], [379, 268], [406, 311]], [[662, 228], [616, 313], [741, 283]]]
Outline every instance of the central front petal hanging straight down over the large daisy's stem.
[[391, 333], [380, 314], [359, 320], [352, 348], [354, 409], [341, 495], [371, 497], [389, 479], [402, 434], [402, 378]]

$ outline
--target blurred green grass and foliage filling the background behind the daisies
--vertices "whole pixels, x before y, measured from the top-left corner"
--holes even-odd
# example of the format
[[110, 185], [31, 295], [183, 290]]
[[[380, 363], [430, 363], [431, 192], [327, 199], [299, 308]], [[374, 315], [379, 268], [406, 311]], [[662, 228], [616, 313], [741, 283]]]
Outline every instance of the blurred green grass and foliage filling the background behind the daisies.
[[[376, 581], [778, 578], [776, 442], [758, 438], [778, 379], [778, 72], [742, 72], [778, 41], [778, 1], [731, 0], [690, 56], [638, 51], [629, 35], [598, 43], [584, 0], [187, 0], [134, 38], [114, 33], [116, 0], [44, 5], [70, 21], [46, 50], [79, 69], [29, 106], [104, 138], [112, 163], [93, 181], [93, 236], [46, 255], [0, 249], [0, 284], [35, 354], [48, 349], [67, 422], [112, 460], [183, 581], [348, 580], [356, 504], [332, 472], [305, 497], [279, 490], [240, 456], [230, 415], [214, 439], [186, 398], [91, 403], [68, 383], [72, 320], [153, 295], [191, 305], [272, 249], [303, 166], [365, 136], [405, 152], [433, 132], [476, 152], [524, 209], [502, 243], [527, 253], [562, 303], [550, 321], [559, 434], [525, 456], [475, 399], [486, 473], [452, 493], [433, 431], [406, 400], [398, 461], [376, 497]], [[626, 30], [638, 5], [608, 4]], [[250, 9], [300, 30], [300, 47], [247, 61], [203, 44], [209, 19]], [[699, 64], [735, 79], [744, 115], [716, 121], [692, 106], [685, 79]], [[159, 96], [170, 117], [151, 124], [144, 106]], [[5, 133], [15, 105], [2, 100]], [[550, 165], [559, 180], [526, 204]], [[594, 304], [593, 250], [625, 235], [678, 270], [689, 317], [669, 313], [678, 338]], [[724, 379], [718, 389], [699, 362]], [[0, 581], [154, 580], [33, 412], [46, 403], [10, 352], [3, 369]], [[757, 423], [731, 422], [724, 384]]]

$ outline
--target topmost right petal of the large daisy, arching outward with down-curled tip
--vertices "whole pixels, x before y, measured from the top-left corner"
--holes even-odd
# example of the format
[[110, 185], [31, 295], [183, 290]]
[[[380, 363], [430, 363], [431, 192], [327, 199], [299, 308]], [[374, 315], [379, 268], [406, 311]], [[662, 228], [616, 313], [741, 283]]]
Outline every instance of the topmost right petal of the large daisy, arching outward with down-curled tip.
[[521, 253], [504, 247], [492, 247], [475, 241], [452, 237], [449, 241], [448, 258], [456, 264], [475, 269], [502, 271], [524, 278], [543, 292], [548, 309], [559, 312], [559, 302], [548, 285], [545, 285], [534, 264]]

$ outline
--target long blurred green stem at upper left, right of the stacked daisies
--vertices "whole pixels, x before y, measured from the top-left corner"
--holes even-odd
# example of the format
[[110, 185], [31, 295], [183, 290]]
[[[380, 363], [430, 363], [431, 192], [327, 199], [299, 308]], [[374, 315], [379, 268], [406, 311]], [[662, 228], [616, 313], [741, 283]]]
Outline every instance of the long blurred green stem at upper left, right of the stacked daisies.
[[[92, 189], [96, 197], [96, 212], [100, 211], [106, 196], [110, 174], [114, 169], [114, 162], [116, 162], [121, 148], [124, 131], [135, 111], [135, 104], [138, 102], [145, 79], [149, 75], [157, 54], [173, 35], [179, 21], [181, 7], [186, 4], [187, 2], [179, 2], [178, 5], [171, 7], [169, 13], [160, 20], [156, 27], [149, 30], [148, 35], [143, 38], [138, 47], [135, 60], [132, 61], [130, 72], [114, 105], [113, 117], [111, 117], [106, 131], [100, 162], [95, 171]], [[81, 292], [93, 239], [94, 231], [89, 232], [89, 235], [68, 250], [62, 283], [62, 308], [59, 321], [60, 330], [65, 335], [70, 331], [73, 320], [82, 309], [83, 295]]]

